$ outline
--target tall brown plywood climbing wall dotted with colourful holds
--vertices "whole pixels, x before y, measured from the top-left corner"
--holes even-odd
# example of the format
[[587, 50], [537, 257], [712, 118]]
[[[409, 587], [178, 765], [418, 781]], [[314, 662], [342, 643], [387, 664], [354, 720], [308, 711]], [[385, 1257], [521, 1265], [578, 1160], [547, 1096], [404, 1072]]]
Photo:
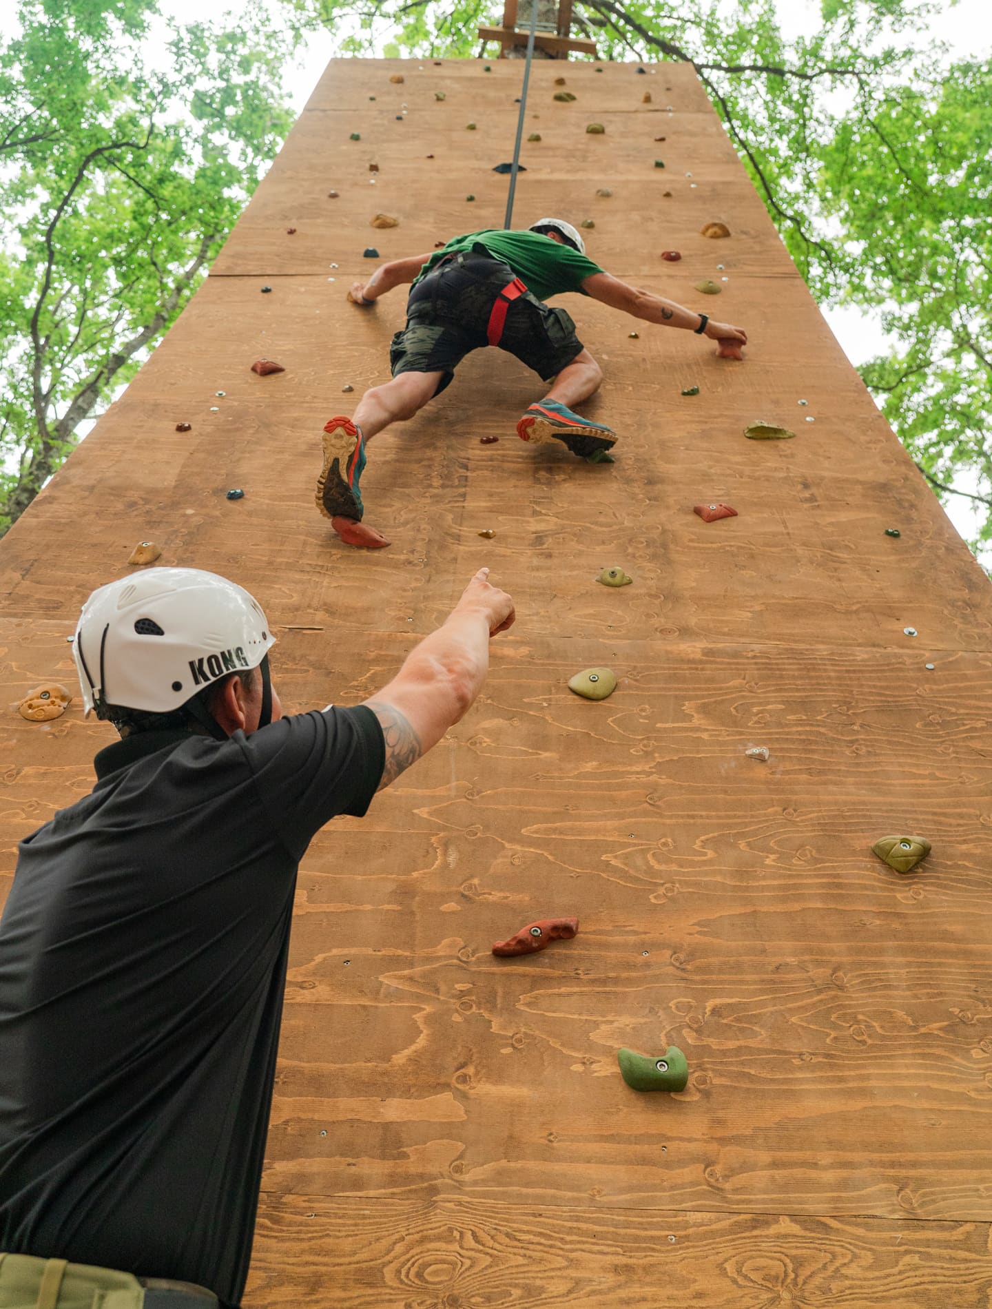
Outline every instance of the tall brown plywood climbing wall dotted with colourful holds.
[[[535, 64], [516, 221], [593, 220], [594, 259], [743, 326], [746, 361], [571, 297], [612, 467], [518, 441], [540, 384], [483, 351], [372, 445], [389, 550], [313, 508], [321, 427], [403, 322], [402, 292], [344, 302], [363, 249], [501, 225], [522, 72], [328, 67], [211, 278], [0, 545], [7, 699], [71, 682], [80, 603], [143, 539], [259, 596], [291, 711], [374, 691], [478, 567], [516, 597], [463, 723], [304, 860], [246, 1309], [985, 1306], [992, 592], [691, 68]], [[756, 419], [796, 436], [745, 439]], [[720, 501], [737, 517], [692, 512]], [[589, 665], [610, 699], [568, 691]], [[9, 880], [110, 729], [79, 702], [3, 721]], [[887, 834], [933, 852], [902, 876]], [[491, 954], [551, 915], [578, 936]], [[629, 1089], [616, 1051], [667, 1045], [687, 1089]]]

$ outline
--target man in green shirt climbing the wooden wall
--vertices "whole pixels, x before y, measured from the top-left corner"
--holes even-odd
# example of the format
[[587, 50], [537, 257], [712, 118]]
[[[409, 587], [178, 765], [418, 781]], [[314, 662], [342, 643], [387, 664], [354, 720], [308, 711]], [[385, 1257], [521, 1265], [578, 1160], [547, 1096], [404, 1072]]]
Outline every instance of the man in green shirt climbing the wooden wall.
[[590, 463], [612, 462], [609, 452], [616, 433], [571, 408], [597, 390], [602, 369], [576, 336], [565, 310], [544, 304], [551, 296], [573, 291], [635, 318], [705, 334], [722, 343], [721, 355], [737, 359], [747, 344], [739, 327], [711, 322], [707, 314], [603, 272], [586, 257], [580, 233], [563, 219], [539, 219], [526, 232], [493, 229], [454, 237], [429, 255], [382, 264], [368, 281], [355, 283], [348, 300], [368, 308], [410, 283], [407, 325], [390, 347], [393, 381], [365, 391], [352, 418], [332, 418], [323, 429], [317, 508], [351, 546], [389, 545], [361, 521], [365, 442], [440, 395], [461, 360], [483, 346], [499, 346], [552, 382], [517, 423], [522, 440], [558, 441]]

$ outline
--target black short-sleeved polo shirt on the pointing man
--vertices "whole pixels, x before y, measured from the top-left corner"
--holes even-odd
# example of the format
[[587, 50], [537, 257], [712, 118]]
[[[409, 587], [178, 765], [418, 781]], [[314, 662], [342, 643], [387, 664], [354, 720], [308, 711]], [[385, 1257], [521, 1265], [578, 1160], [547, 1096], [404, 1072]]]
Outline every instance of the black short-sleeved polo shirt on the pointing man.
[[370, 709], [131, 737], [21, 843], [0, 922], [0, 1250], [241, 1299], [297, 864], [383, 768]]

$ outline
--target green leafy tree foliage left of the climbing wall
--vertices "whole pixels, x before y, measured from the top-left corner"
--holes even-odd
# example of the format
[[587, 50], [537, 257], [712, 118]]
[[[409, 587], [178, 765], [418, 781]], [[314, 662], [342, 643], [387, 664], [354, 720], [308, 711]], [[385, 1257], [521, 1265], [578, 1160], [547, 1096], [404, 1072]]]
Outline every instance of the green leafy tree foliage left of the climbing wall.
[[170, 30], [165, 71], [154, 0], [21, 0], [18, 20], [0, 46], [0, 530], [182, 309], [289, 123], [288, 46], [262, 16]]

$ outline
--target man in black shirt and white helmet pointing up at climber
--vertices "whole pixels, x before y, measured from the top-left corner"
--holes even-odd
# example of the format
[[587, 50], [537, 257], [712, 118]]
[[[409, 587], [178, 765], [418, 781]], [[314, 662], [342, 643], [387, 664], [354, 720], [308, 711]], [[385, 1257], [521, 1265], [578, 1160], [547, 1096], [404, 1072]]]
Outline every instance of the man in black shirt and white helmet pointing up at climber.
[[84, 606], [84, 702], [123, 740], [22, 842], [0, 923], [0, 1304], [116, 1276], [115, 1305], [237, 1306], [298, 861], [474, 702], [514, 618], [487, 572], [378, 695], [289, 717], [225, 579], [156, 568]]

